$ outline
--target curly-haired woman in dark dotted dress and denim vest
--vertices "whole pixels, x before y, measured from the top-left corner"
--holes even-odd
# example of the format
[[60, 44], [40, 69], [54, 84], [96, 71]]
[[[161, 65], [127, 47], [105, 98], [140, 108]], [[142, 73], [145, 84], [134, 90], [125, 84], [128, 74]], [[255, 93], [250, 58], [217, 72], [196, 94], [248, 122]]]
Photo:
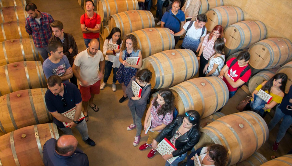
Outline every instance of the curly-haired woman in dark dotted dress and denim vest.
[[[139, 68], [142, 67], [142, 54], [139, 50], [138, 41], [136, 36], [129, 34], [124, 37], [122, 43], [122, 54], [119, 55], [119, 61], [122, 63], [117, 71], [117, 80], [122, 84], [122, 89], [124, 92], [123, 97], [119, 100], [120, 103], [124, 102], [128, 96], [126, 94], [126, 88], [133, 76], [136, 75]], [[130, 65], [127, 63], [126, 59], [128, 57], [140, 57], [138, 65]], [[128, 66], [127, 68], [125, 66]]]

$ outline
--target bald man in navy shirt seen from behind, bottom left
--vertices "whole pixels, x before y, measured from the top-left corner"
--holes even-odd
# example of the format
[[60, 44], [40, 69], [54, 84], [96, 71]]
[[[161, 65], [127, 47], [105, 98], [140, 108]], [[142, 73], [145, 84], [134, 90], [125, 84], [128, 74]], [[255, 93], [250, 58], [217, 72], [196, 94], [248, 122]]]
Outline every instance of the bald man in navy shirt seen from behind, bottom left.
[[62, 135], [58, 140], [51, 138], [44, 144], [45, 166], [88, 166], [88, 158], [77, 148], [78, 141], [73, 135]]

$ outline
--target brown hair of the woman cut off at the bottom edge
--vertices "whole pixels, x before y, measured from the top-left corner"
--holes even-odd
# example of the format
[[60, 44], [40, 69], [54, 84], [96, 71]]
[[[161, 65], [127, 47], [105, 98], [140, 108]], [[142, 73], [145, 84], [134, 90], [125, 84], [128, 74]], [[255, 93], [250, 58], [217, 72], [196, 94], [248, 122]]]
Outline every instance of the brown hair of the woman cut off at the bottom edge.
[[215, 166], [225, 166], [227, 161], [228, 151], [222, 145], [215, 144], [208, 146], [209, 157], [215, 161]]

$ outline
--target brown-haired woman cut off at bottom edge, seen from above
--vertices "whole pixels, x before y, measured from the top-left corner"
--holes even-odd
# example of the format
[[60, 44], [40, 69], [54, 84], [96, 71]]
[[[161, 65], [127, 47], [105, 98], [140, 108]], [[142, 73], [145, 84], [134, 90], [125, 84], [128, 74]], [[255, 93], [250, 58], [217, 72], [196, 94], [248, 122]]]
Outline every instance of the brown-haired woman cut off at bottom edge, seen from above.
[[190, 154], [187, 159], [187, 166], [194, 166], [196, 154], [202, 166], [225, 166], [228, 151], [224, 146], [219, 144], [199, 148]]

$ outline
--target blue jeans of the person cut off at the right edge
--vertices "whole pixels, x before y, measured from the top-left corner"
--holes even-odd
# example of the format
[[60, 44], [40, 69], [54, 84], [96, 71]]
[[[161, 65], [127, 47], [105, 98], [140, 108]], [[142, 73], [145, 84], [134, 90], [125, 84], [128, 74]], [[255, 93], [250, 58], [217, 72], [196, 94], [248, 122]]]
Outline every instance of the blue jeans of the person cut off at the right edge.
[[276, 139], [277, 143], [279, 143], [282, 140], [282, 138], [285, 136], [286, 131], [292, 125], [292, 117], [290, 115], [283, 114], [279, 106], [280, 104], [278, 104], [278, 106], [276, 107], [275, 115], [268, 124], [269, 131], [271, 131], [275, 127], [275, 125], [283, 118]]

